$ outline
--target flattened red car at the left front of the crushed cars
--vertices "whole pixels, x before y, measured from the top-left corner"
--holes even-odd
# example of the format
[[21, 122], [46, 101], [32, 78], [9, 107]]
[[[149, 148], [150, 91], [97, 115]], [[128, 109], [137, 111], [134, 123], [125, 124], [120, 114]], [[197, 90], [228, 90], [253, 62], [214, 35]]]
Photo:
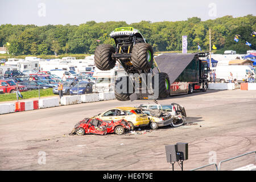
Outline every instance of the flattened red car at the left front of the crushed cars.
[[124, 134], [126, 131], [130, 131], [130, 124], [121, 119], [119, 121], [102, 121], [99, 118], [84, 118], [82, 121], [76, 123], [74, 129], [69, 135], [84, 135], [84, 134], [98, 134], [106, 135], [109, 133], [115, 133], [118, 135]]

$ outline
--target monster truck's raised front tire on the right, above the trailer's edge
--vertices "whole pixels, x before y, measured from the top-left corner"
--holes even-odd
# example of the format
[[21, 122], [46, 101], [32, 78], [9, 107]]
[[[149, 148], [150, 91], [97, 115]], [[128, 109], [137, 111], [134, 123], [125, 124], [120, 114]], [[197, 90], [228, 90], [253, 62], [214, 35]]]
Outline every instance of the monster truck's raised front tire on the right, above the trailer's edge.
[[151, 68], [154, 59], [154, 51], [148, 43], [137, 43], [131, 52], [131, 61], [137, 69], [147, 70]]

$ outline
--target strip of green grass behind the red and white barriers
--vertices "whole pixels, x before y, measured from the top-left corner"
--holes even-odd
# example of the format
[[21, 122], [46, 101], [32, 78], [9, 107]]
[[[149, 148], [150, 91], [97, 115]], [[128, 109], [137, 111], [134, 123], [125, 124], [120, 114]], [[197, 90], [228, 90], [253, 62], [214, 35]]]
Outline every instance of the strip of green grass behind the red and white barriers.
[[[39, 91], [38, 90], [30, 90], [27, 92], [20, 92], [23, 98], [19, 98], [20, 101], [26, 100], [28, 98], [39, 98]], [[40, 97], [48, 97], [48, 96], [56, 96], [52, 93], [52, 89], [40, 89]], [[16, 93], [5, 93], [0, 94], [0, 102], [3, 101], [16, 101]]]

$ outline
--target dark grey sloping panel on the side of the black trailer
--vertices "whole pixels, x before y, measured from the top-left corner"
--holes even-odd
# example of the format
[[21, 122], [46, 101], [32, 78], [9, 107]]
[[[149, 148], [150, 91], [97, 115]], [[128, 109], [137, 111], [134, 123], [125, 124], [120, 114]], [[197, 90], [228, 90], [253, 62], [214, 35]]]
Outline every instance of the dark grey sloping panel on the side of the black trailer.
[[167, 73], [172, 84], [176, 78], [184, 71], [197, 53], [164, 53], [155, 57], [156, 64], [160, 72]]

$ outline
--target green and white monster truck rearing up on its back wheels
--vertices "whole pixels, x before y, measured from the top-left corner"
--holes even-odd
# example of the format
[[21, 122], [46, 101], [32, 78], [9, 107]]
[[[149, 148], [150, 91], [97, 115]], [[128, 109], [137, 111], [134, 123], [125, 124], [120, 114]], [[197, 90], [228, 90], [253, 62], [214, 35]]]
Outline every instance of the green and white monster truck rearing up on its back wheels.
[[[146, 42], [146, 39], [143, 38], [139, 30], [136, 30], [133, 27], [115, 28], [115, 30], [110, 33], [110, 37], [114, 39], [115, 47], [110, 44], [100, 44], [96, 47], [94, 53], [96, 67], [102, 71], [106, 71], [114, 68], [115, 63], [118, 61], [125, 69], [127, 75], [130, 75], [130, 73], [137, 75], [137, 77], [121, 77], [119, 80], [117, 79], [117, 81], [115, 81], [115, 97], [117, 100], [133, 101], [137, 98], [148, 99], [148, 95], [154, 94], [152, 92], [149, 93], [147, 89], [146, 93], [142, 93], [142, 82], [146, 83], [148, 82], [148, 79], [151, 80], [149, 81], [151, 83], [151, 91], [158, 89], [158, 98], [164, 98], [170, 95], [169, 77], [167, 73], [159, 71], [154, 59], [153, 48]], [[157, 72], [155, 70], [157, 70]], [[146, 80], [143, 80], [142, 77], [138, 76], [142, 73], [147, 75]], [[158, 75], [158, 77], [155, 77], [156, 75]], [[116, 88], [118, 82], [122, 81], [122, 79], [126, 79], [127, 84], [122, 84], [121, 89], [125, 90], [125, 92], [120, 93], [117, 92]], [[155, 86], [156, 84], [154, 84], [154, 80], [157, 80], [158, 86]], [[139, 82], [139, 94], [129, 92], [129, 83], [131, 83], [134, 92], [135, 81]], [[156, 89], [154, 89], [154, 86]], [[131, 95], [133, 95], [133, 97]]]

